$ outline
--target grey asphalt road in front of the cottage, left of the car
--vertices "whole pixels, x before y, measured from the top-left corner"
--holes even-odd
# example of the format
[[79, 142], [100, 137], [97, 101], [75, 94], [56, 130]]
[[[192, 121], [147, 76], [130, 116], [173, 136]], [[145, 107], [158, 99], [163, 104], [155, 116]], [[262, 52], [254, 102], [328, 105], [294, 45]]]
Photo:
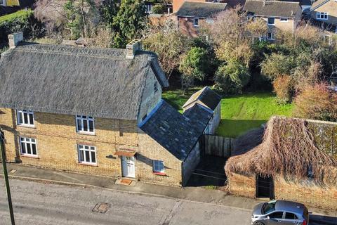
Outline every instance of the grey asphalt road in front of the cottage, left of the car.
[[[232, 207], [194, 203], [102, 188], [11, 180], [16, 224], [249, 224], [251, 213]], [[4, 179], [0, 179], [0, 224], [10, 224]], [[108, 203], [105, 214], [93, 212]]]

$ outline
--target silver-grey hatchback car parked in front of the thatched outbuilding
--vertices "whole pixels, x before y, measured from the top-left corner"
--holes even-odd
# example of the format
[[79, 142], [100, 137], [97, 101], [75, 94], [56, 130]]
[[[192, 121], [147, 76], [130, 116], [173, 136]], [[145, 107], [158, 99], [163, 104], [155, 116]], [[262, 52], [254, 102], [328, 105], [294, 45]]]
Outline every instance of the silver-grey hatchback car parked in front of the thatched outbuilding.
[[253, 225], [308, 225], [309, 212], [305, 205], [284, 200], [260, 203], [251, 215]]

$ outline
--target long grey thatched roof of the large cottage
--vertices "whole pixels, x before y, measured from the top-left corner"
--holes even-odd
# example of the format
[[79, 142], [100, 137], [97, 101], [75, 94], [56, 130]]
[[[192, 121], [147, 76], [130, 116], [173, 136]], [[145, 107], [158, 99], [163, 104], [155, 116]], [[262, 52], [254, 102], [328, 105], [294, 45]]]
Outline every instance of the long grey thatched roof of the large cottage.
[[151, 68], [167, 86], [154, 53], [24, 44], [0, 59], [0, 107], [136, 120]]

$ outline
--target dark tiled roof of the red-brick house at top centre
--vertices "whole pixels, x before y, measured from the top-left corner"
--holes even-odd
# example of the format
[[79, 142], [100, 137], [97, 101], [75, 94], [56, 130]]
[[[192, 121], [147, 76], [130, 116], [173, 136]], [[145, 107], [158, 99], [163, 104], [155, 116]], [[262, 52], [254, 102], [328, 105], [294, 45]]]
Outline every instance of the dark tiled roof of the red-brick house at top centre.
[[185, 1], [176, 13], [181, 17], [213, 18], [217, 13], [224, 11], [225, 3]]

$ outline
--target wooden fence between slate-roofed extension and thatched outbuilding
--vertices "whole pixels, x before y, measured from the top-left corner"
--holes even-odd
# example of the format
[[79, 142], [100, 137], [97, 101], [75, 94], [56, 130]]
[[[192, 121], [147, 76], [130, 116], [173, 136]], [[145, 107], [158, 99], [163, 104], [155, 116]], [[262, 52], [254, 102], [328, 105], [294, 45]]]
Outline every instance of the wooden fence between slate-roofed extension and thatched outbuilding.
[[204, 151], [206, 155], [215, 155], [230, 158], [232, 155], [233, 141], [235, 139], [204, 134]]

